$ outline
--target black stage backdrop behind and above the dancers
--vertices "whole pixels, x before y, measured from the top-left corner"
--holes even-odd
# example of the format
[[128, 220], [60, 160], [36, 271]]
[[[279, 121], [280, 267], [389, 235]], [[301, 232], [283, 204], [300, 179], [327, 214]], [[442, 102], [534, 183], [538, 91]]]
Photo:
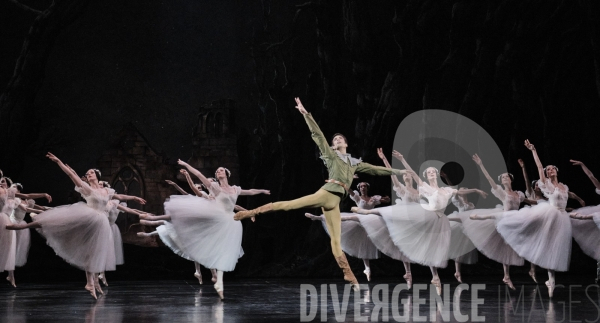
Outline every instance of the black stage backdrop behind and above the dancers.
[[[293, 108], [295, 96], [327, 135], [345, 133], [351, 152], [372, 163], [379, 162], [376, 147], [389, 155], [397, 126], [411, 112], [461, 113], [496, 140], [517, 189], [524, 189], [517, 158], [535, 177], [522, 145], [529, 138], [544, 163], [559, 167], [561, 181], [588, 204], [600, 203], [591, 182], [568, 163], [580, 159], [600, 171], [596, 1], [22, 4], [39, 12], [0, 1], [0, 84], [7, 85], [0, 168], [26, 192], [52, 194], [55, 205], [66, 201], [72, 184], [44, 158], [46, 151], [82, 173], [133, 122], [171, 162], [187, 159], [199, 106], [221, 98], [237, 102], [241, 183], [235, 184], [272, 191], [239, 204], [312, 193], [326, 174]], [[373, 193], [389, 194], [388, 178], [371, 181]], [[231, 275], [339, 276], [327, 235], [304, 212], [244, 222], [246, 255]], [[18, 280], [83, 277], [32, 235]], [[165, 248], [127, 245], [125, 252], [126, 265], [114, 278], [188, 277], [193, 268]], [[572, 261], [572, 272], [593, 275], [595, 262], [576, 244]], [[351, 264], [362, 271], [359, 260]], [[463, 277], [501, 275], [501, 266], [485, 259], [464, 270]], [[426, 268], [413, 271], [428, 276]], [[526, 268], [516, 271], [527, 277]], [[374, 275], [402, 272], [398, 262], [373, 261]]]

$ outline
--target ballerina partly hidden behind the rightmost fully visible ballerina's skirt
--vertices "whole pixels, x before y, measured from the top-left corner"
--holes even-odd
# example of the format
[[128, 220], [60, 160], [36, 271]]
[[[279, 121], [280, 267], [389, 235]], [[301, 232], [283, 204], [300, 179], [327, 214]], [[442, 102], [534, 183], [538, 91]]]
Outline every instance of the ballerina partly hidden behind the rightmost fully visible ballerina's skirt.
[[[513, 175], [510, 173], [500, 174], [498, 181], [502, 183], [503, 187], [501, 187], [494, 182], [477, 154], [473, 155], [473, 161], [479, 166], [490, 183], [492, 194], [502, 201], [504, 211], [518, 210], [519, 205], [525, 199], [525, 195], [512, 189]], [[515, 286], [510, 279], [510, 266], [523, 266], [523, 258], [504, 241], [502, 235], [496, 230], [496, 222], [493, 219], [473, 221], [483, 219], [485, 214], [496, 214], [498, 212], [501, 212], [501, 210], [475, 209], [461, 212], [459, 217], [462, 220], [464, 233], [471, 239], [477, 250], [481, 251], [486, 257], [502, 264], [504, 269], [502, 282], [514, 290]], [[529, 275], [534, 281], [536, 280], [535, 270], [530, 271]]]

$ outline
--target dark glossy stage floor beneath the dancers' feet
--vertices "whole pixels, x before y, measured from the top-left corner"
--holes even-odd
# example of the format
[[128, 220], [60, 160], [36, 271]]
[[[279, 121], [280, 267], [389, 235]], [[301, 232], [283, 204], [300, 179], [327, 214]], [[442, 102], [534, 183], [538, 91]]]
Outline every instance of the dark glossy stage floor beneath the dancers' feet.
[[[545, 275], [540, 275], [540, 280]], [[562, 275], [561, 275], [562, 276]], [[109, 277], [110, 279], [110, 274]], [[515, 277], [517, 278], [517, 277]], [[527, 277], [529, 278], [529, 277]], [[110, 281], [94, 300], [80, 283], [19, 283], [0, 289], [1, 322], [589, 322], [600, 319], [600, 292], [592, 282], [559, 277], [552, 300], [543, 283], [517, 281], [516, 291], [489, 278], [479, 285], [444, 285], [430, 299], [427, 277], [412, 290], [397, 280], [364, 285], [355, 298], [338, 279], [225, 281], [221, 301], [211, 283], [197, 280]], [[3, 278], [4, 279], [4, 278]], [[210, 277], [205, 277], [210, 279]], [[524, 279], [524, 278], [523, 278]], [[466, 280], [466, 279], [465, 279]], [[469, 279], [471, 280], [471, 279]], [[422, 285], [418, 283], [423, 283]], [[304, 292], [303, 292], [304, 291]], [[433, 289], [435, 294], [435, 288]], [[323, 295], [327, 304], [322, 303]], [[337, 295], [336, 295], [337, 294]], [[306, 296], [308, 295], [308, 296]], [[333, 295], [333, 297], [332, 297]], [[336, 301], [332, 301], [336, 300]], [[432, 305], [437, 304], [437, 305]], [[345, 313], [344, 313], [345, 310]], [[387, 313], [387, 320], [385, 314]], [[338, 315], [336, 317], [336, 314]]]

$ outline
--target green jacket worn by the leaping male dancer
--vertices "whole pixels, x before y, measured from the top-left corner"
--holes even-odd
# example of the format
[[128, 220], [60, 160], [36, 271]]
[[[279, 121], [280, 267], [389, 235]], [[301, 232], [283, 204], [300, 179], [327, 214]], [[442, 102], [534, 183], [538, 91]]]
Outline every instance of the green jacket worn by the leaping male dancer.
[[[329, 172], [329, 179], [335, 179], [340, 181], [349, 188], [352, 184], [352, 180], [354, 179], [354, 173], [365, 173], [369, 175], [380, 175], [380, 176], [389, 176], [389, 175], [402, 175], [402, 172], [398, 169], [386, 168], [381, 166], [373, 166], [368, 163], [364, 163], [360, 159], [356, 159], [350, 154], [342, 154], [337, 150], [334, 150], [329, 146], [329, 142], [319, 129], [319, 126], [313, 119], [310, 113], [304, 115], [304, 119], [306, 120], [306, 124], [308, 125], [308, 129], [310, 130], [310, 136], [313, 138], [317, 147], [321, 151], [321, 159], [327, 166], [327, 171]], [[346, 197], [346, 190], [335, 183], [325, 183], [321, 187], [322, 189], [332, 192], [332, 193], [341, 193], [344, 197]]]

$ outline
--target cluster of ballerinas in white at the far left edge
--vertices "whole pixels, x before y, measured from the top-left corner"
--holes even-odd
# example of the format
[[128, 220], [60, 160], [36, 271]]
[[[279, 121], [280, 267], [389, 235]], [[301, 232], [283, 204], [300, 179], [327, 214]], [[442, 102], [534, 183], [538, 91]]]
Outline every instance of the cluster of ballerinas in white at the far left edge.
[[[69, 176], [75, 184], [75, 190], [81, 194], [86, 203], [75, 203], [63, 205], [54, 208], [36, 207], [28, 202], [27, 207], [19, 208], [15, 221], [6, 223], [0, 229], [0, 239], [11, 239], [10, 237], [23, 236], [27, 239], [26, 248], [29, 248], [29, 228], [35, 228], [46, 239], [47, 244], [54, 249], [57, 255], [63, 258], [71, 265], [80, 268], [86, 273], [85, 289], [97, 298], [96, 292], [103, 294], [99, 280], [107, 285], [105, 271], [114, 271], [116, 265], [123, 264], [123, 246], [121, 234], [115, 225], [115, 220], [120, 211], [133, 214], [141, 214], [141, 211], [133, 210], [121, 205], [120, 201], [134, 200], [140, 204], [146, 201], [136, 196], [116, 194], [106, 182], [99, 181], [100, 171], [90, 169], [85, 176], [79, 177], [77, 173], [64, 164], [60, 159], [51, 153], [46, 155], [50, 160], [56, 162], [58, 166]], [[6, 190], [2, 185], [2, 199], [0, 203], [4, 204], [1, 216], [3, 221], [7, 215], [6, 210], [14, 208], [7, 202], [13, 193]], [[17, 188], [18, 189], [18, 188]], [[31, 199], [36, 197], [46, 197], [48, 201], [51, 198], [48, 194], [19, 194], [14, 196], [18, 198]], [[16, 202], [16, 199], [14, 199]], [[15, 203], [16, 204], [16, 203]], [[13, 205], [15, 205], [13, 204]], [[16, 204], [19, 205], [19, 204]], [[23, 203], [21, 202], [21, 205]], [[33, 206], [29, 207], [29, 206]], [[16, 211], [16, 208], [15, 208]], [[26, 223], [23, 221], [26, 212], [31, 212], [33, 221]], [[6, 222], [6, 221], [5, 221]], [[18, 230], [18, 231], [13, 231]], [[14, 238], [12, 238], [14, 239]], [[13, 246], [23, 249], [24, 242], [13, 242], [11, 244], [2, 244], [0, 250], [0, 259], [12, 259]], [[15, 259], [27, 258], [27, 251], [23, 251]], [[10, 260], [9, 260], [10, 261]], [[10, 270], [8, 267], [4, 267]], [[14, 269], [13, 269], [14, 270]], [[14, 275], [9, 271], [8, 280], [15, 286]], [[16, 287], [16, 286], [15, 286]]]

